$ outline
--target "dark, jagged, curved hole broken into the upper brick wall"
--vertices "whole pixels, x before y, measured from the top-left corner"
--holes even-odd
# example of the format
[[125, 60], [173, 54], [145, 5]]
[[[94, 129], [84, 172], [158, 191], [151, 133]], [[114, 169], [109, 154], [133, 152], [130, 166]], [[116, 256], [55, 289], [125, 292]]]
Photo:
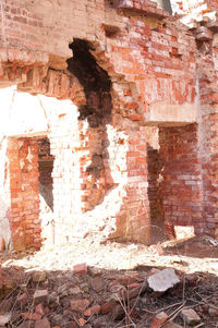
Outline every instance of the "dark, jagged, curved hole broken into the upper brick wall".
[[69, 71], [75, 75], [84, 88], [86, 105], [80, 108], [80, 120], [87, 121], [90, 127], [110, 123], [112, 99], [111, 81], [92, 54], [94, 48], [82, 39], [74, 39], [70, 45], [73, 57], [68, 60]]

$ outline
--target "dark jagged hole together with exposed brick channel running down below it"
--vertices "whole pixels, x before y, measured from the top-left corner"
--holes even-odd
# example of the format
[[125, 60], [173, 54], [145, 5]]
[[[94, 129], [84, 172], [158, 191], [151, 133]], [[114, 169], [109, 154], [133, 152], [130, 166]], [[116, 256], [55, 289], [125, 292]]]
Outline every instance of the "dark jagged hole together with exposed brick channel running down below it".
[[112, 187], [112, 183], [102, 182], [106, 171], [112, 181], [108, 165], [107, 147], [110, 143], [106, 126], [111, 122], [111, 81], [93, 56], [92, 51], [95, 49], [90, 42], [75, 38], [70, 49], [73, 57], [68, 60], [68, 70], [77, 77], [86, 98], [86, 104], [78, 108], [78, 120], [87, 120], [89, 125], [86, 137], [90, 165], [83, 171], [86, 185], [83, 210], [86, 211], [102, 203], [107, 191]]

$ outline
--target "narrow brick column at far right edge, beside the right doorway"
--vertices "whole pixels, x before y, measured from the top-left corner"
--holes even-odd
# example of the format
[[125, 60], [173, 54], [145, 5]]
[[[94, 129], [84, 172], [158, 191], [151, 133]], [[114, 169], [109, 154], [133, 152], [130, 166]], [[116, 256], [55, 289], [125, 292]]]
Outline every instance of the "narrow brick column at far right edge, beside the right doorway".
[[215, 57], [198, 60], [205, 232], [218, 236], [218, 76]]

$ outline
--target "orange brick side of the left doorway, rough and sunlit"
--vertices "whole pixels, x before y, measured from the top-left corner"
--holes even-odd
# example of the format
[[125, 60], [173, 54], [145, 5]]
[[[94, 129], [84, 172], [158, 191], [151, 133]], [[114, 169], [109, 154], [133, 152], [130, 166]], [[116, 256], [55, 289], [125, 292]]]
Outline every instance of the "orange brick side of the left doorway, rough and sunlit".
[[15, 250], [41, 244], [38, 197], [38, 144], [35, 139], [11, 139], [8, 148], [11, 210]]

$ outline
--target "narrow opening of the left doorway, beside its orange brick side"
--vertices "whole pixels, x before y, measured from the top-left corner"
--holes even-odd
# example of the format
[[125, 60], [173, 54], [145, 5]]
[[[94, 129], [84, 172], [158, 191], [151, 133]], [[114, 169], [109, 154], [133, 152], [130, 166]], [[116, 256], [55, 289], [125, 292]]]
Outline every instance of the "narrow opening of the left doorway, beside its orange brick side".
[[50, 143], [47, 137], [38, 141], [38, 171], [39, 171], [39, 193], [40, 209], [45, 212], [53, 211], [53, 193], [52, 193], [52, 170], [53, 156], [50, 155]]

